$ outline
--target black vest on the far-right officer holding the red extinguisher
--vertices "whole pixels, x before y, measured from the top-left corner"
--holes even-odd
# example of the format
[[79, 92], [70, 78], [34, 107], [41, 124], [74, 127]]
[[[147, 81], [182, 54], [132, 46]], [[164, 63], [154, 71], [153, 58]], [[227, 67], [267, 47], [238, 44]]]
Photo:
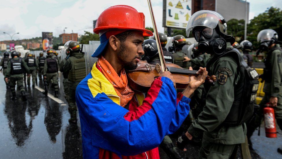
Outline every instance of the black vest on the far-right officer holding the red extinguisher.
[[272, 81], [272, 66], [271, 66], [271, 57], [272, 57], [272, 52], [274, 50], [280, 50], [282, 52], [281, 47], [279, 46], [274, 46], [272, 47], [269, 52], [267, 53], [266, 59], [264, 61], [264, 74], [262, 76], [263, 80], [266, 81], [267, 83], [271, 83]]

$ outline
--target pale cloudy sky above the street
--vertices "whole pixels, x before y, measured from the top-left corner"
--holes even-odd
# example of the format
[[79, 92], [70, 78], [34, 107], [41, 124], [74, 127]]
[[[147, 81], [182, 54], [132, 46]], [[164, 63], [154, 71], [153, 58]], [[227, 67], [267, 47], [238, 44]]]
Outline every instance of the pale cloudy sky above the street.
[[[268, 7], [282, 8], [280, 0], [248, 0], [250, 19], [264, 12]], [[152, 0], [153, 11], [159, 32], [162, 28], [162, 0]], [[132, 6], [145, 14], [146, 26], [152, 27], [146, 0], [7, 0], [0, 6], [0, 41], [10, 40], [7, 32], [14, 34], [13, 40], [42, 36], [42, 32], [53, 32], [58, 37], [66, 28], [66, 33], [84, 34], [92, 32], [93, 20], [101, 12], [114, 5]]]

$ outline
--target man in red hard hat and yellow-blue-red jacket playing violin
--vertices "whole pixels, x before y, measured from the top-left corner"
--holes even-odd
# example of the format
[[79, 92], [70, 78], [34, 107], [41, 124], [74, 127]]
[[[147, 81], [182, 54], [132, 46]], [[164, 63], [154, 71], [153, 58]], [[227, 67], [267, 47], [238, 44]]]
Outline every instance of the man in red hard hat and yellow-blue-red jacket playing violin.
[[76, 89], [84, 158], [159, 158], [159, 144], [180, 127], [190, 95], [205, 81], [207, 71], [200, 68], [177, 94], [166, 71], [146, 95], [133, 91], [126, 71], [144, 54], [144, 36], [153, 35], [144, 22], [143, 13], [123, 5], [106, 9], [97, 20], [94, 33], [101, 44], [92, 57], [98, 61]]

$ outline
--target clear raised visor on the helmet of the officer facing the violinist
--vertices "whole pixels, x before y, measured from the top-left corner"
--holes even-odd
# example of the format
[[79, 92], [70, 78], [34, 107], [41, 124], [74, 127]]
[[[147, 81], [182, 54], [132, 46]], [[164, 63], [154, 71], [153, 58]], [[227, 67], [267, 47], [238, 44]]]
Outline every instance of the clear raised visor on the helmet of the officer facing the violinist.
[[189, 37], [190, 31], [196, 26], [205, 26], [211, 29], [216, 28], [218, 21], [224, 19], [222, 15], [211, 10], [200, 10], [194, 13], [186, 26], [186, 35]]

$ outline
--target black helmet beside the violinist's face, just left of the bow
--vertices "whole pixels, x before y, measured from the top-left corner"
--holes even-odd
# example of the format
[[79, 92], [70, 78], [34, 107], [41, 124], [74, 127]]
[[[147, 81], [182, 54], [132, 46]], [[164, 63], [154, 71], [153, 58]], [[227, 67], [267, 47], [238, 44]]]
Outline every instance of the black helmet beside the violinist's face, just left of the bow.
[[142, 44], [144, 57], [142, 60], [151, 61], [158, 54], [157, 42], [153, 39], [144, 40]]

